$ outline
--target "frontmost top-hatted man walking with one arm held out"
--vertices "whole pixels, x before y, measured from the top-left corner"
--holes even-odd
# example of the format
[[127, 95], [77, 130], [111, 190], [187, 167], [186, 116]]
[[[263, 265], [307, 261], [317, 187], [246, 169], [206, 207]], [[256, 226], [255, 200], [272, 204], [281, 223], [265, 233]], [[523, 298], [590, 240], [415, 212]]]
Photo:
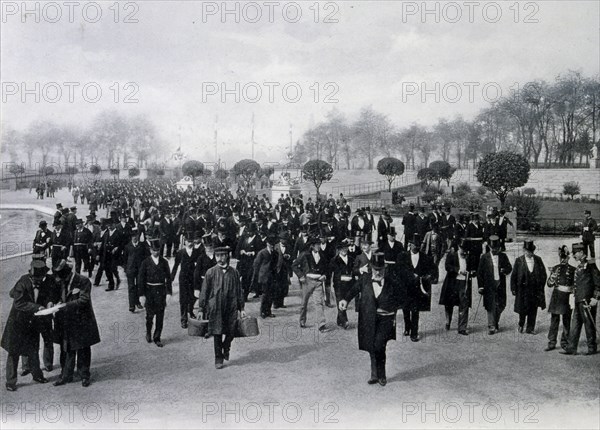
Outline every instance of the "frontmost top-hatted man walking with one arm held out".
[[358, 314], [358, 348], [369, 352], [371, 377], [368, 384], [387, 384], [385, 363], [388, 340], [396, 339], [396, 311], [401, 302], [399, 285], [386, 276], [383, 253], [375, 253], [373, 272], [363, 276], [339, 303], [345, 311], [348, 302], [360, 293]]

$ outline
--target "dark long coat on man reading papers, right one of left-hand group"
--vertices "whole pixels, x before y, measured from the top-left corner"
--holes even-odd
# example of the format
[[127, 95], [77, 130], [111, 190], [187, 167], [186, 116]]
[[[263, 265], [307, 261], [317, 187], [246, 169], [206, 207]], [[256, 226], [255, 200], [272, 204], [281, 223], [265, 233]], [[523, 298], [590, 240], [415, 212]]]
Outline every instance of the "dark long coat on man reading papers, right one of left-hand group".
[[100, 332], [92, 307], [92, 283], [72, 273], [61, 286], [61, 301], [67, 305], [54, 319], [54, 342], [66, 351], [75, 351], [100, 342]]

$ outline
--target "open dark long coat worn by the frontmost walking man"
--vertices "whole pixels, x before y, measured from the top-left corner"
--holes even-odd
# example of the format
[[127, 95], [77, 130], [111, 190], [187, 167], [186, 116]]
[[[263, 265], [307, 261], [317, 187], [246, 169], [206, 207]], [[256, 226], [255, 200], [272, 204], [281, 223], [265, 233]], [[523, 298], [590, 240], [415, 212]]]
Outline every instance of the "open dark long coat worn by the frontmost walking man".
[[[381, 299], [384, 296], [389, 298], [389, 309], [385, 309], [388, 312], [395, 312], [401, 306], [402, 297], [399, 287], [400, 285], [398, 282], [394, 282], [391, 277], [386, 275], [379, 298]], [[346, 294], [344, 299], [346, 302], [350, 302], [358, 294], [360, 294], [358, 349], [361, 351], [374, 352], [378, 299], [375, 298], [371, 275], [363, 275]], [[380, 335], [383, 335], [386, 341], [396, 339], [396, 318], [394, 318], [393, 329], [387, 333], [380, 333]]]

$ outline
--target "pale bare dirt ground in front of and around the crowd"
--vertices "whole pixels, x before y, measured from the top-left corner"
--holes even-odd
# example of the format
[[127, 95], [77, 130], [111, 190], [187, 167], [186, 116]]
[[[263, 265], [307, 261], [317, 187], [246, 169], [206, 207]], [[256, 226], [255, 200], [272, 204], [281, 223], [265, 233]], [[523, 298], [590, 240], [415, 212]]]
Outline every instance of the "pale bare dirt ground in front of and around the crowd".
[[[7, 198], [3, 194], [2, 202]], [[54, 207], [52, 200], [44, 203]], [[538, 238], [537, 253], [551, 266], [558, 245], [574, 241]], [[511, 262], [520, 246], [510, 245]], [[12, 304], [8, 291], [28, 262], [17, 257], [0, 263], [2, 324]], [[456, 316], [445, 331], [437, 304], [441, 282], [434, 286], [432, 311], [421, 313], [421, 342], [402, 336], [398, 316], [397, 340], [387, 349], [388, 384], [381, 387], [366, 383], [369, 358], [357, 347], [354, 310], [350, 329], [343, 330], [335, 325], [335, 309], [326, 309], [331, 331], [321, 334], [311, 305], [308, 326], [299, 328], [296, 278], [288, 307], [275, 311], [274, 319], [259, 319], [260, 336], [236, 339], [222, 370], [214, 367], [212, 339], [189, 337], [180, 327], [177, 283], [166, 312], [164, 348], [145, 342], [145, 314], [129, 313], [126, 285], [114, 292], [105, 287], [103, 280], [92, 292], [102, 337], [92, 347], [92, 385], [84, 388], [76, 378], [54, 387], [55, 368], [45, 372], [50, 383], [19, 377], [18, 390], [9, 393], [3, 389], [2, 351], [1, 428], [600, 427], [600, 354], [544, 352], [548, 313], [538, 313], [535, 335], [519, 334], [510, 293], [494, 336], [487, 334], [483, 306], [473, 321], [479, 301], [474, 293], [471, 335], [464, 337], [457, 335]], [[258, 316], [258, 300], [247, 303], [246, 311]], [[582, 334], [579, 351], [585, 349]]]

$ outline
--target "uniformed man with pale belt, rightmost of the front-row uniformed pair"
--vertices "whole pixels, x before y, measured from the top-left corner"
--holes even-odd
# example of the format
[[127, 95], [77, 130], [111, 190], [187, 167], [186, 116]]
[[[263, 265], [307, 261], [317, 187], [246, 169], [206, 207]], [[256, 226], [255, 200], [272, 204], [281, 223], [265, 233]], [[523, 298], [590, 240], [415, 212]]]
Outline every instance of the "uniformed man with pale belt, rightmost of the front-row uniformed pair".
[[588, 350], [585, 355], [598, 352], [596, 343], [596, 311], [598, 300], [600, 300], [600, 271], [593, 261], [589, 261], [586, 255], [586, 246], [583, 243], [575, 243], [572, 246], [573, 257], [579, 262], [575, 269], [575, 280], [573, 287], [573, 315], [571, 317], [571, 329], [569, 331], [569, 344], [561, 354], [577, 354], [577, 345], [581, 335], [581, 326], [585, 328]]

